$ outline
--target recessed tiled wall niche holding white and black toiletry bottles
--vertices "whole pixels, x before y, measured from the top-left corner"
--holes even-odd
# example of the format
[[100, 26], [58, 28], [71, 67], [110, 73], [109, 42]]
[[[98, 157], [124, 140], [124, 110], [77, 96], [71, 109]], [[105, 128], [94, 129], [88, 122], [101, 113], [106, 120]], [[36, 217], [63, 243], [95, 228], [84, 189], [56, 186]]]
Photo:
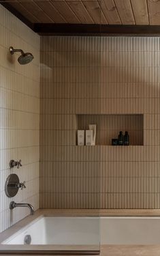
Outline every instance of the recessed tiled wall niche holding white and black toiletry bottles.
[[142, 114], [78, 114], [76, 117], [77, 130], [87, 130], [89, 129], [89, 124], [97, 124], [96, 145], [112, 145], [112, 139], [118, 138], [120, 130], [122, 130], [124, 134], [125, 131], [129, 132], [130, 146], [144, 145], [144, 115]]

